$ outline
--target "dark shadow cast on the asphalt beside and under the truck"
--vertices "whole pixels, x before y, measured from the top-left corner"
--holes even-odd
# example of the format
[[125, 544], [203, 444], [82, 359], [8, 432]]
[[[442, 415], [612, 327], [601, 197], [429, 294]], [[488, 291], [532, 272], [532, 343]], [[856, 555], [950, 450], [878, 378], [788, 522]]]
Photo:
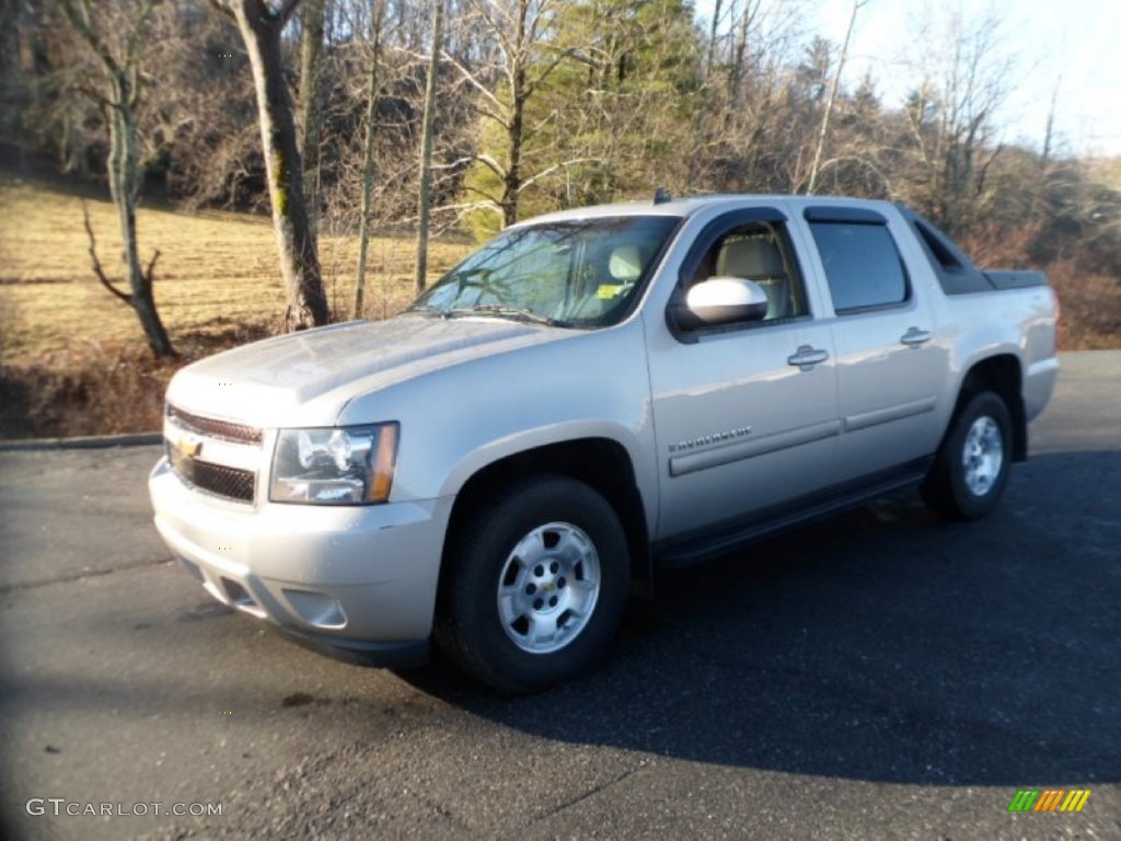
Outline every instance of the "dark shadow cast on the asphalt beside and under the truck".
[[923, 785], [1121, 780], [1121, 453], [1035, 456], [973, 524], [899, 495], [664, 573], [604, 666], [502, 699], [401, 676], [564, 742]]

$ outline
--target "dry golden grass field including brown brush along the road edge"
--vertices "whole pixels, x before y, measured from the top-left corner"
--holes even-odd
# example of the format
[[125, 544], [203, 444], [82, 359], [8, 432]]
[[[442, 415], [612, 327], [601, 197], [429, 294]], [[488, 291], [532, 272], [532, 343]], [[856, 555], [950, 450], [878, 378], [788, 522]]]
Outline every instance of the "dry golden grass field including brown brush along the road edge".
[[[269, 220], [143, 206], [140, 255], [147, 262], [160, 252], [156, 303], [180, 354], [155, 362], [136, 315], [91, 270], [83, 202], [102, 266], [120, 279], [120, 237], [108, 197], [0, 170], [0, 437], [156, 429], [163, 389], [178, 367], [269, 335], [284, 312]], [[332, 311], [349, 317], [356, 239], [324, 237], [319, 249]], [[469, 249], [434, 242], [432, 279]], [[368, 317], [409, 303], [414, 251], [410, 238], [371, 242]]]

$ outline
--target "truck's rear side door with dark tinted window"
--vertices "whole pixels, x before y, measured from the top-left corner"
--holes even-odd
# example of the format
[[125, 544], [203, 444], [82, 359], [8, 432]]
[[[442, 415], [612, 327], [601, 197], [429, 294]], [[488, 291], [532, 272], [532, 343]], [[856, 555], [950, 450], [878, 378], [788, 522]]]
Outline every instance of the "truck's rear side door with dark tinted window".
[[835, 315], [836, 479], [920, 470], [937, 447], [948, 370], [929, 306], [934, 278], [900, 256], [902, 223], [877, 211], [810, 206], [805, 219]]

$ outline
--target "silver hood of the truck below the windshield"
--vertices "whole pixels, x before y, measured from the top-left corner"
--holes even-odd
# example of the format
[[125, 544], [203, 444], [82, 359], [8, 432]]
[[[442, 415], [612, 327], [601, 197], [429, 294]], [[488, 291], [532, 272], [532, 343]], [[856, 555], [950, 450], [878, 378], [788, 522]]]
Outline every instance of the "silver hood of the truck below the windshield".
[[348, 322], [267, 339], [187, 366], [173, 378], [167, 400], [187, 412], [258, 427], [330, 426], [360, 395], [573, 334], [485, 317]]

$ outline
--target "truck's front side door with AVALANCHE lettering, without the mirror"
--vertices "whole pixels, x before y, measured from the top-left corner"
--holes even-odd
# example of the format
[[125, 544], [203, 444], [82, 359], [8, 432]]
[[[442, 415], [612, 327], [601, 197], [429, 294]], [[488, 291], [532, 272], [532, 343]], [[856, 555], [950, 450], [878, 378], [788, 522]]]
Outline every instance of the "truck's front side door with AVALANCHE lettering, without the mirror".
[[747, 277], [768, 295], [763, 321], [682, 332], [648, 323], [660, 509], [657, 537], [734, 530], [753, 514], [832, 481], [833, 334], [804, 283], [786, 216], [726, 213], [695, 239], [679, 299], [711, 276]]

